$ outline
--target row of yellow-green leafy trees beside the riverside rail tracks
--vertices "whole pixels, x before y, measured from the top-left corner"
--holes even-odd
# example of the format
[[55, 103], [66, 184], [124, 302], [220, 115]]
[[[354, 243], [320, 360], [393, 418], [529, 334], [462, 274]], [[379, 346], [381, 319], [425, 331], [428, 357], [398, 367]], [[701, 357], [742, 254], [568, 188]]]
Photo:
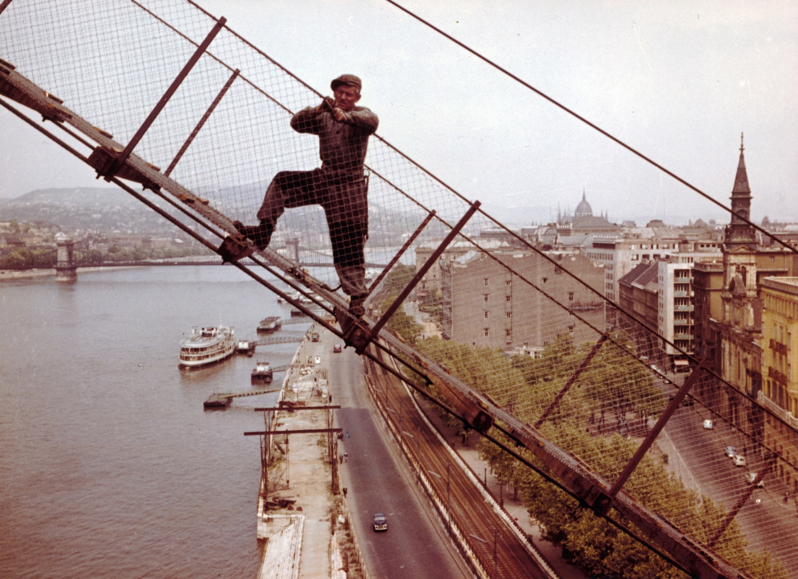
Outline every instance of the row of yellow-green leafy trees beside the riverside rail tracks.
[[[415, 322], [394, 318], [395, 331], [405, 340], [413, 337]], [[623, 337], [615, 335], [615, 340], [621, 347], [604, 345], [541, 427], [548, 439], [572, 455], [588, 459], [591, 468], [609, 480], [617, 478], [639, 441], [629, 439], [618, 430], [602, 434], [586, 428], [591, 417], [604, 412], [611, 413], [618, 421], [625, 416], [658, 416], [667, 401], [666, 394], [654, 385], [650, 372], [646, 372], [633, 356], [627, 355]], [[491, 396], [519, 419], [534, 423], [592, 345], [578, 349], [567, 334], [548, 346], [538, 359], [531, 356], [508, 358], [498, 349], [472, 348], [437, 338], [416, 341], [415, 346], [444, 364], [454, 376]], [[495, 435], [501, 436], [500, 433]], [[506, 442], [512, 446], [511, 440]], [[605, 519], [580, 507], [570, 495], [499, 447], [483, 439], [479, 449], [496, 476], [519, 491], [529, 514], [539, 522], [543, 537], [562, 546], [563, 553], [588, 576], [685, 577]], [[534, 455], [525, 449], [518, 450], [531, 463], [546, 470]], [[699, 543], [709, 542], [725, 518], [726, 510], [722, 505], [685, 488], [681, 479], [670, 475], [662, 459], [652, 452], [644, 457], [624, 489]], [[614, 517], [620, 518], [620, 515], [614, 512]], [[787, 576], [769, 553], [755, 552], [748, 547], [735, 521], [715, 549], [738, 569], [745, 569], [754, 577], [782, 579]]]

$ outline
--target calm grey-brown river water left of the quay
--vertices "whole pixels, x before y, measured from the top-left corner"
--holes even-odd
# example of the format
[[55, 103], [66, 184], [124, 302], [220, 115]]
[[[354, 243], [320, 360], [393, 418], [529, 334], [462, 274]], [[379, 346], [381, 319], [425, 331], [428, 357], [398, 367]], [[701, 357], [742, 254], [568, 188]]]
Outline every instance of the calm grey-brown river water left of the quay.
[[203, 400], [297, 345], [190, 372], [177, 354], [192, 325], [255, 337], [267, 315], [290, 309], [231, 266], [0, 285], [0, 577], [255, 577], [259, 440], [243, 431], [276, 395]]

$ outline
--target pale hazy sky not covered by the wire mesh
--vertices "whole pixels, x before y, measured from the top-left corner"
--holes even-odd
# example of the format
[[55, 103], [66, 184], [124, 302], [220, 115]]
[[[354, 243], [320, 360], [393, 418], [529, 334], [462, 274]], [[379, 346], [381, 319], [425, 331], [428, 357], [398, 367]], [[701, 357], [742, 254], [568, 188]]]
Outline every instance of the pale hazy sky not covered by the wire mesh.
[[[387, 2], [199, 3], [322, 92], [341, 73], [360, 76], [360, 104], [380, 116], [382, 136], [520, 221], [547, 221], [558, 203], [573, 209], [583, 188], [594, 212], [613, 221], [728, 221]], [[796, 2], [404, 6], [723, 203], [745, 132], [754, 219], [798, 220]], [[0, 162], [0, 196], [98, 183], [5, 111]]]

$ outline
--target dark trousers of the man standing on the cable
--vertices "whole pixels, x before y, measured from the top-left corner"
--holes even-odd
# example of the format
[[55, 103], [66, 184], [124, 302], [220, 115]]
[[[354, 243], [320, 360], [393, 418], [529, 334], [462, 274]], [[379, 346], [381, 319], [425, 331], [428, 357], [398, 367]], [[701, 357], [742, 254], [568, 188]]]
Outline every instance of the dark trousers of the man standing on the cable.
[[321, 205], [330, 230], [333, 262], [341, 287], [349, 296], [361, 297], [365, 288], [363, 247], [369, 238], [368, 186], [362, 176], [331, 171], [280, 171], [272, 179], [258, 211], [270, 231], [286, 207]]

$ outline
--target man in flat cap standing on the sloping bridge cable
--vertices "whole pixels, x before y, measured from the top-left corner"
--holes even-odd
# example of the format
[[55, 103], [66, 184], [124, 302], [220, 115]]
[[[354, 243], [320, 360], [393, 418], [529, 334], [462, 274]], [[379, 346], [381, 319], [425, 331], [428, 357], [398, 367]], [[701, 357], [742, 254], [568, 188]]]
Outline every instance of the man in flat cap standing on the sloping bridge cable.
[[350, 313], [356, 317], [365, 313], [363, 302], [368, 295], [363, 246], [369, 236], [369, 207], [363, 162], [369, 135], [379, 122], [368, 108], [355, 105], [361, 86], [354, 74], [342, 74], [330, 84], [334, 98], [325, 97], [318, 106], [294, 115], [294, 131], [318, 135], [322, 166], [313, 171], [280, 171], [257, 213], [259, 225], [234, 223], [244, 237], [263, 249], [286, 207], [321, 205], [330, 229], [335, 271], [342, 290], [350, 296]]

